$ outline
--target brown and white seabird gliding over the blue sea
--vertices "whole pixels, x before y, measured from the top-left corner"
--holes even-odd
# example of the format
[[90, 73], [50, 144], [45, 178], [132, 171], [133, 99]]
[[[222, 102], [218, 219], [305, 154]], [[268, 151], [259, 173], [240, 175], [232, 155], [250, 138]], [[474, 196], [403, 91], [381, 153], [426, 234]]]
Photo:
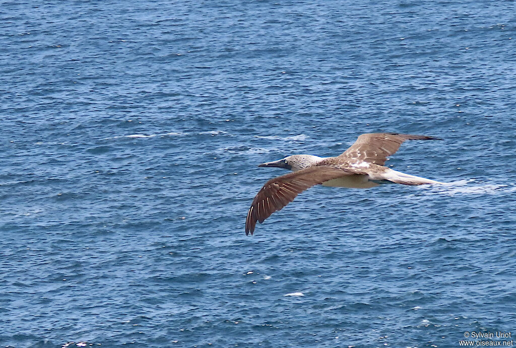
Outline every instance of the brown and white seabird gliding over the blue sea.
[[264, 222], [296, 196], [315, 185], [370, 188], [391, 182], [403, 185], [443, 184], [439, 181], [401, 173], [383, 164], [405, 140], [441, 140], [411, 134], [368, 133], [336, 157], [292, 155], [258, 167], [277, 167], [292, 173], [270, 179], [256, 194], [247, 212], [246, 236], [254, 233], [256, 222]]

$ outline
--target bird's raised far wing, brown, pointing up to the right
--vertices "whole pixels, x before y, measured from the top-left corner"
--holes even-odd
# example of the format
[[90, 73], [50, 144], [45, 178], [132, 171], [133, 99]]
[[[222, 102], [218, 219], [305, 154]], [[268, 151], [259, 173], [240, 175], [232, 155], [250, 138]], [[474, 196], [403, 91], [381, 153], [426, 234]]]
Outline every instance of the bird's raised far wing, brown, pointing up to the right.
[[356, 158], [378, 165], [398, 151], [405, 140], [441, 140], [439, 138], [397, 133], [367, 133], [358, 137], [351, 147], [337, 158]]

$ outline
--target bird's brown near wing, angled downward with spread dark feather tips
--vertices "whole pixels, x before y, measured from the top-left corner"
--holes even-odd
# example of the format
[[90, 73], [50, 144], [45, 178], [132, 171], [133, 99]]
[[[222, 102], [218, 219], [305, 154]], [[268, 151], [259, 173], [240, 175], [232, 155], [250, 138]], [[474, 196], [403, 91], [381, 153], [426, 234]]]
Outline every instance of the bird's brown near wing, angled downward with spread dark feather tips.
[[256, 194], [247, 212], [246, 236], [249, 232], [251, 235], [253, 234], [256, 221], [264, 222], [273, 212], [281, 210], [288, 203], [294, 201], [294, 198], [304, 190], [351, 174], [345, 168], [321, 165], [270, 179]]

